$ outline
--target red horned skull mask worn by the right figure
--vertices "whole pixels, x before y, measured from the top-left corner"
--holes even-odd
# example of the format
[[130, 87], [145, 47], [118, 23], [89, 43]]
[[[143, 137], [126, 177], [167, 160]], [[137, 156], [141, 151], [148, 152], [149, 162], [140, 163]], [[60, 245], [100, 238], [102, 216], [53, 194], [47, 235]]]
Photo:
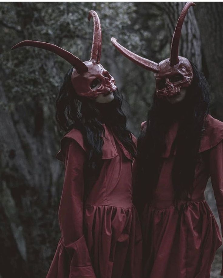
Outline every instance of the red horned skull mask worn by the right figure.
[[154, 72], [156, 94], [159, 98], [174, 96], [180, 92], [181, 87], [188, 87], [192, 82], [193, 69], [191, 63], [187, 58], [178, 56], [178, 48], [184, 18], [190, 6], [194, 5], [193, 2], [187, 2], [181, 11], [172, 38], [170, 58], [161, 61], [159, 64], [134, 54], [120, 45], [117, 39], [111, 38], [113, 45], [124, 56], [139, 66]]

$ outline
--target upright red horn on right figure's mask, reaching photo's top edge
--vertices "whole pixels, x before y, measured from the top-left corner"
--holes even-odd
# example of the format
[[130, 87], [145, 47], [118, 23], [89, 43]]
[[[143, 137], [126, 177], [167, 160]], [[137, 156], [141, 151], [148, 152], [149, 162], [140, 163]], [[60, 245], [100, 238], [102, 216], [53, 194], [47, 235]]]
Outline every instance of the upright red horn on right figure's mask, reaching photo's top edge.
[[188, 9], [191, 6], [195, 6], [193, 2], [187, 2], [184, 6], [183, 10], [181, 11], [181, 14], [178, 18], [176, 28], [174, 30], [172, 42], [171, 42], [171, 54], [170, 54], [170, 65], [174, 66], [179, 62], [178, 58], [178, 48], [179, 48], [179, 42], [181, 37], [181, 29], [184, 23], [184, 18], [188, 12]]

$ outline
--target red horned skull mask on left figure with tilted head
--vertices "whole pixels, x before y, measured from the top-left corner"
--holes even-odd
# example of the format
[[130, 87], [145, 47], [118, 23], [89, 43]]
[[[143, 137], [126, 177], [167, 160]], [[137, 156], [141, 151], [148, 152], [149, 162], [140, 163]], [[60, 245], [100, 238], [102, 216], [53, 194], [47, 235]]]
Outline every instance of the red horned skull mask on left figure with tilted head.
[[21, 41], [14, 45], [12, 49], [22, 46], [33, 46], [49, 50], [67, 62], [74, 68], [71, 76], [71, 82], [77, 95], [95, 99], [99, 94], [107, 94], [117, 90], [115, 79], [100, 64], [101, 57], [101, 24], [100, 19], [95, 11], [90, 11], [88, 19], [93, 17], [94, 32], [91, 48], [90, 60], [82, 62], [72, 53], [56, 46], [42, 41]]

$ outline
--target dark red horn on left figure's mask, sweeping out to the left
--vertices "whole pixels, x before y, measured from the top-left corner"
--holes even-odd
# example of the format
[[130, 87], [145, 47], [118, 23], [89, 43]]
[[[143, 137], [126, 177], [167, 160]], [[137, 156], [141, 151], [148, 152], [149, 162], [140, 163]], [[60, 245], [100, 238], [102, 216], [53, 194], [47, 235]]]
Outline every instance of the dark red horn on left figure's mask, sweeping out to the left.
[[55, 44], [49, 44], [47, 42], [42, 41], [21, 41], [18, 44], [15, 44], [11, 49], [15, 49], [22, 46], [34, 46], [42, 49], [49, 50], [60, 57], [62, 57], [64, 60], [69, 62], [73, 67], [75, 67], [76, 71], [79, 74], [82, 74], [86, 71], [88, 71], [88, 67], [76, 56], [74, 56], [72, 53], [64, 50], [63, 48], [56, 46]]

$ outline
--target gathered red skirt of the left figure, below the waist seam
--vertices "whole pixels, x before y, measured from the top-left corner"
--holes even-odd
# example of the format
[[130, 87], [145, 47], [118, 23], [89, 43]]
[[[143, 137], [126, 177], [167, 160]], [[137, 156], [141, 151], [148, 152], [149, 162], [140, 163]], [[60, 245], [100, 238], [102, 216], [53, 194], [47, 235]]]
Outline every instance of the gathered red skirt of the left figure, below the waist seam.
[[70, 260], [61, 237], [47, 278], [92, 277], [92, 267], [97, 278], [141, 278], [142, 234], [134, 206], [86, 205], [84, 229], [92, 266], [73, 267], [69, 276]]

